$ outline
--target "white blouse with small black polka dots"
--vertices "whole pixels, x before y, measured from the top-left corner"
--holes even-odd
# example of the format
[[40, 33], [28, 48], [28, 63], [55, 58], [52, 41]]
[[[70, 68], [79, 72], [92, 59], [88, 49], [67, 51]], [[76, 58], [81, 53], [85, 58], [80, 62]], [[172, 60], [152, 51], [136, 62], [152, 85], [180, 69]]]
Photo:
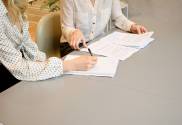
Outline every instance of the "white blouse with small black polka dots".
[[45, 80], [63, 74], [62, 60], [46, 59], [38, 50], [23, 22], [23, 33], [10, 23], [7, 9], [0, 0], [0, 65], [4, 65], [19, 80]]

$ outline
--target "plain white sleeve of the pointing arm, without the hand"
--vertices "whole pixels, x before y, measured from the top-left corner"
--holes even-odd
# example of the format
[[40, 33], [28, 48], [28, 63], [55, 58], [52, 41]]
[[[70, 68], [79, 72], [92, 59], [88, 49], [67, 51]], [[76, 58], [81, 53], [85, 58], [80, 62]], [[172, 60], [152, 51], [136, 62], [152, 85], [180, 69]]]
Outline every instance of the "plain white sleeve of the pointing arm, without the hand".
[[69, 42], [74, 27], [74, 3], [73, 0], [62, 0], [61, 2], [61, 29], [63, 33], [62, 42]]

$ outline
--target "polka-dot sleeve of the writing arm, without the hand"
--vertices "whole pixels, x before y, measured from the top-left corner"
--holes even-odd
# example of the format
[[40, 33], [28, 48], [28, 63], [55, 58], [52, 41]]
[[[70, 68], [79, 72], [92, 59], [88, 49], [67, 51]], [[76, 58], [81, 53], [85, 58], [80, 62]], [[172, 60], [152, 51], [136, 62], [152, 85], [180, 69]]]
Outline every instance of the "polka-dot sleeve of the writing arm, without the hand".
[[[1, 28], [2, 29], [2, 28]], [[27, 60], [0, 29], [0, 62], [19, 80], [45, 80], [63, 74], [62, 60], [56, 57], [41, 61]], [[31, 43], [28, 43], [29, 45]], [[34, 44], [30, 45], [33, 48]], [[31, 47], [30, 47], [31, 48]], [[37, 49], [37, 48], [36, 48]], [[39, 60], [39, 61], [38, 61]]]

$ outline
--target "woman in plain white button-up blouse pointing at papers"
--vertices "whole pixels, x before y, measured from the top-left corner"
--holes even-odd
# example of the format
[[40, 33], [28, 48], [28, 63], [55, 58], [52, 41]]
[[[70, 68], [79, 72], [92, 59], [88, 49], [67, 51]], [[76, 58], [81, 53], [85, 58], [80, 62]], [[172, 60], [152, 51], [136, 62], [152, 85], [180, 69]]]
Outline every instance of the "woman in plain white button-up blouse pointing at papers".
[[144, 26], [122, 14], [120, 0], [62, 0], [61, 17], [61, 42], [68, 42], [74, 49], [79, 49], [79, 43], [87, 47], [86, 41], [102, 34], [110, 18], [122, 30], [138, 34], [147, 32]]

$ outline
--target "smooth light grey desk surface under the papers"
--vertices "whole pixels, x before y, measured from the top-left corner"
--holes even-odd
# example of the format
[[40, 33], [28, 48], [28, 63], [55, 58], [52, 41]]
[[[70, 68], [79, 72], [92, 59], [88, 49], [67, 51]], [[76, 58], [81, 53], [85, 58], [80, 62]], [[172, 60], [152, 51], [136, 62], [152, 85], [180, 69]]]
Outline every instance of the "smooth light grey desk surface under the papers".
[[114, 78], [69, 75], [43, 82], [20, 82], [0, 94], [0, 122], [181, 125], [182, 2], [139, 3], [129, 1], [130, 17], [154, 30], [156, 40], [120, 62]]

